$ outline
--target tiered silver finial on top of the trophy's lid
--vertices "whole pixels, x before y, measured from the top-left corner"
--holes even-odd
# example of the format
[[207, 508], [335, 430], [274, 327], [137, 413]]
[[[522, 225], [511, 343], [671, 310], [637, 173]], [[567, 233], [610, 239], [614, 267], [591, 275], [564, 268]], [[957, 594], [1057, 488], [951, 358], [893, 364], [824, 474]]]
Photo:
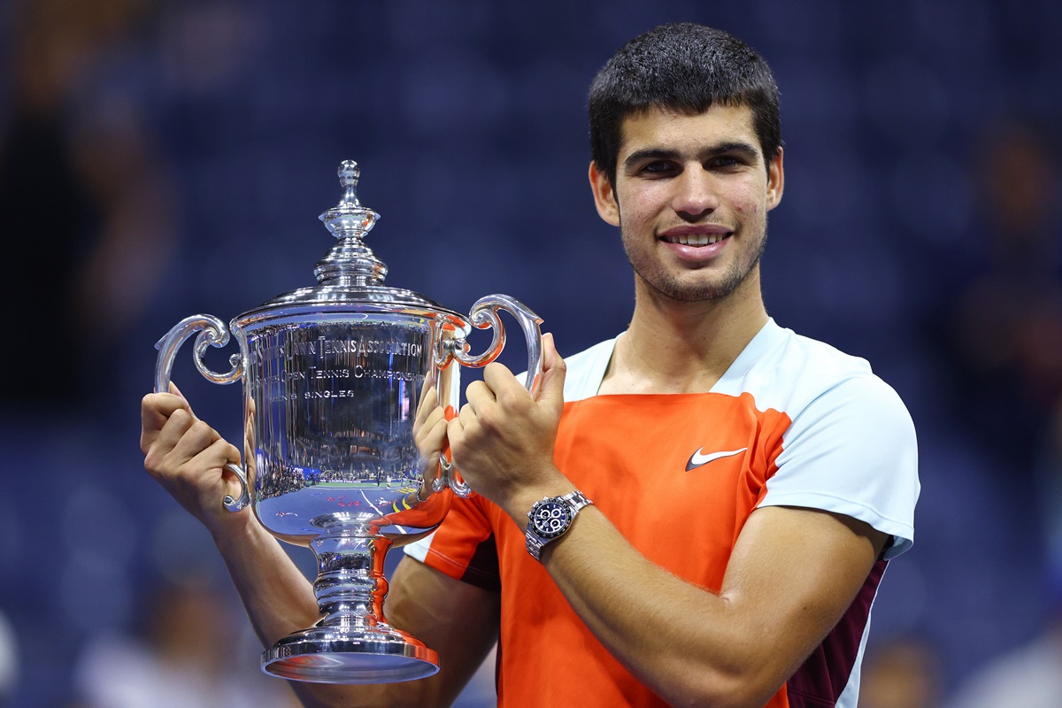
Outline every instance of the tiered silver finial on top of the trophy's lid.
[[339, 184], [343, 196], [339, 204], [321, 214], [331, 235], [339, 239], [328, 255], [318, 262], [313, 273], [318, 282], [352, 282], [379, 284], [388, 273], [380, 261], [363, 242], [380, 214], [366, 209], [358, 200], [358, 178], [361, 168], [354, 160], [343, 160], [339, 166]]

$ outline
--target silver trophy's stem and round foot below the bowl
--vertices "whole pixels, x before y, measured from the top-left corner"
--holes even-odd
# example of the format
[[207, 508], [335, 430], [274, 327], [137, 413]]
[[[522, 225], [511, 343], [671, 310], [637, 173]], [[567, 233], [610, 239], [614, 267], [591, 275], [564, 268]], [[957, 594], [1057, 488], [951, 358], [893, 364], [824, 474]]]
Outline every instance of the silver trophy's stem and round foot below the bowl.
[[262, 654], [262, 671], [282, 678], [328, 684], [377, 684], [424, 678], [439, 657], [383, 617], [391, 541], [367, 528], [326, 531], [310, 547], [318, 557], [313, 592], [324, 616]]

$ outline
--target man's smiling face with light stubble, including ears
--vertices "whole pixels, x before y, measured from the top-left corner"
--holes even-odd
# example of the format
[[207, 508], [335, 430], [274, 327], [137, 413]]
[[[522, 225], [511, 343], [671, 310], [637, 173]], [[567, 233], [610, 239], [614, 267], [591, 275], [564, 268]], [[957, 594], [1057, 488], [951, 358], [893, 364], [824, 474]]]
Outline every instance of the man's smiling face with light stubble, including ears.
[[782, 152], [769, 162], [748, 106], [623, 122], [615, 185], [590, 165], [598, 213], [620, 227], [640, 292], [683, 301], [758, 296], [767, 212], [782, 200]]

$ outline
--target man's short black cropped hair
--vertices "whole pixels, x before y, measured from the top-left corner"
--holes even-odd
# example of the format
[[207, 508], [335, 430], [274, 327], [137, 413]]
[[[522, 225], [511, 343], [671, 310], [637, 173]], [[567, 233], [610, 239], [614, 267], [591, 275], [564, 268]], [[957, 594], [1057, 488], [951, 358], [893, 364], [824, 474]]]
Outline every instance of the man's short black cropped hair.
[[662, 24], [623, 45], [590, 85], [590, 158], [616, 182], [623, 121], [650, 108], [691, 115], [713, 105], [749, 106], [769, 161], [782, 148], [778, 87], [756, 50], [721, 30]]

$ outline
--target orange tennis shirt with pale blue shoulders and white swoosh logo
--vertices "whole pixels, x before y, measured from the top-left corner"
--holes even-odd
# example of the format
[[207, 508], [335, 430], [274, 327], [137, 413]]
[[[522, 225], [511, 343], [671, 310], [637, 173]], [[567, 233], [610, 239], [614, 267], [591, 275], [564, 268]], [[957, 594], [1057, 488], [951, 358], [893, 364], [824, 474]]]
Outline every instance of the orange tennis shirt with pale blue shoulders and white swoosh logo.
[[[878, 583], [914, 538], [914, 427], [900, 397], [864, 360], [773, 320], [708, 393], [599, 396], [615, 342], [567, 360], [554, 460], [647, 558], [718, 591], [746, 520], [769, 505], [889, 535], [844, 617], [768, 704], [855, 706]], [[528, 555], [524, 530], [484, 498], [456, 500], [407, 553], [500, 591], [499, 706], [666, 705], [598, 642]]]

